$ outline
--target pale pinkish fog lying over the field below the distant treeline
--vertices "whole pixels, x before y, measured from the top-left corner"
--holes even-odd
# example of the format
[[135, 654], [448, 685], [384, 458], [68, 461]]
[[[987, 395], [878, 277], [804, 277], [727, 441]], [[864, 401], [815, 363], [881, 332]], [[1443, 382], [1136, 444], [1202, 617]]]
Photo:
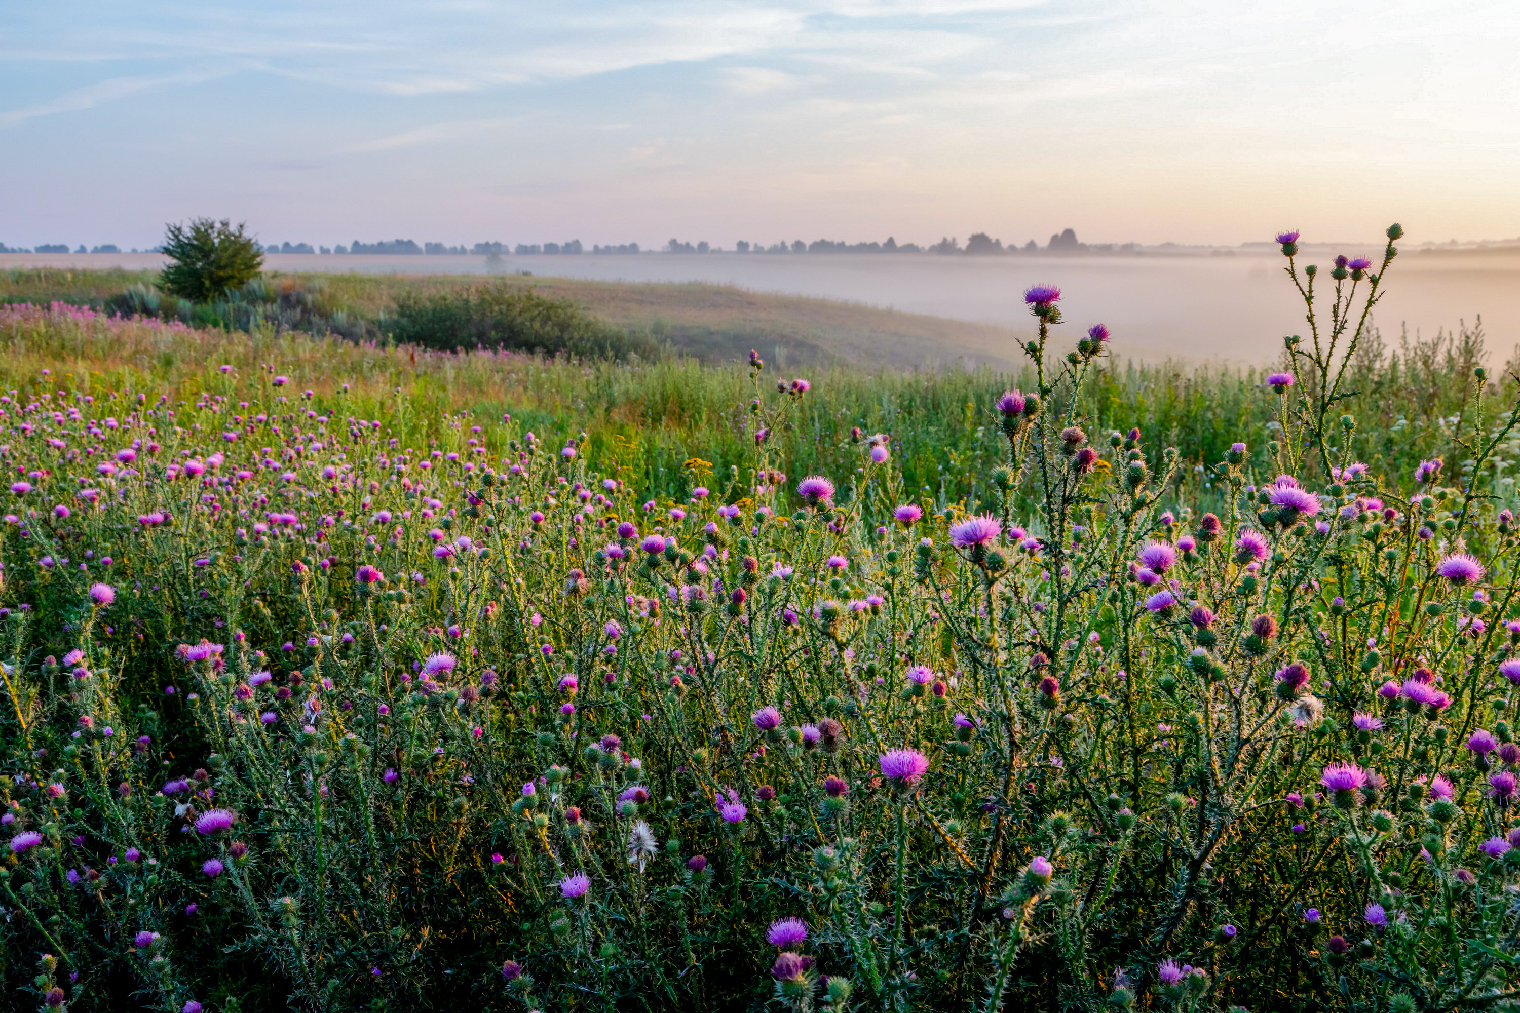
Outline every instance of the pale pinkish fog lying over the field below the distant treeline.
[[[1336, 252], [1376, 255], [1373, 246], [1307, 248], [1300, 264], [1328, 264]], [[155, 267], [154, 254], [0, 255], [0, 266]], [[1070, 333], [1102, 322], [1114, 351], [1146, 361], [1219, 358], [1265, 363], [1281, 337], [1303, 331], [1298, 295], [1277, 252], [1230, 255], [939, 257], [932, 254], [640, 254], [508, 255], [500, 269], [603, 281], [710, 281], [757, 292], [821, 296], [976, 323], [1026, 328], [1021, 290], [1061, 286]], [[483, 257], [272, 254], [272, 270], [485, 273]], [[1401, 254], [1376, 310], [1385, 340], [1400, 328], [1435, 333], [1482, 317], [1488, 348], [1502, 364], [1520, 342], [1520, 248]], [[933, 349], [926, 349], [933, 352]]]

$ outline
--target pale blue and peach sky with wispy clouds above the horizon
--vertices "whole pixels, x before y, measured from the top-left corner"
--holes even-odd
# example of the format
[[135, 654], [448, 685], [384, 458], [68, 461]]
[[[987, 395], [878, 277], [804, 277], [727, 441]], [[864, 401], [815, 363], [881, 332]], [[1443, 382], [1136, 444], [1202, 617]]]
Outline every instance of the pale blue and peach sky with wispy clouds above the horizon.
[[0, 243], [1520, 235], [1520, 5], [9, 3]]

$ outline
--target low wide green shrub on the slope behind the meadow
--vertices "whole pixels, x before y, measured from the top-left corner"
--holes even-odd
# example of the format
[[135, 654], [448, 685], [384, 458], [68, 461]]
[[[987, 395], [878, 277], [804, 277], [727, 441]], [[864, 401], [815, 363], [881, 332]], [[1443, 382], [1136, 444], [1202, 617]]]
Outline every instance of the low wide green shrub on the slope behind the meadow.
[[570, 299], [502, 282], [397, 298], [391, 337], [423, 348], [502, 348], [578, 358], [655, 358], [648, 337], [619, 333]]

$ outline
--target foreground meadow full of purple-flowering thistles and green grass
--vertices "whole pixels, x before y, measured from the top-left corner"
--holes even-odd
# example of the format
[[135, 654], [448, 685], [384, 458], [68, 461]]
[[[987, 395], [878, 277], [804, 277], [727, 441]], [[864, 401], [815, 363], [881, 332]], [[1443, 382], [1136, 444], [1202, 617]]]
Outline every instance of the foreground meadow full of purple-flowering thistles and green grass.
[[12, 301], [0, 1002], [1511, 1008], [1520, 390], [1398, 238], [1263, 372]]

